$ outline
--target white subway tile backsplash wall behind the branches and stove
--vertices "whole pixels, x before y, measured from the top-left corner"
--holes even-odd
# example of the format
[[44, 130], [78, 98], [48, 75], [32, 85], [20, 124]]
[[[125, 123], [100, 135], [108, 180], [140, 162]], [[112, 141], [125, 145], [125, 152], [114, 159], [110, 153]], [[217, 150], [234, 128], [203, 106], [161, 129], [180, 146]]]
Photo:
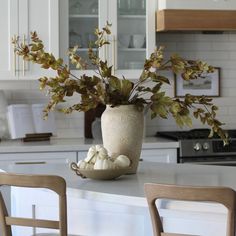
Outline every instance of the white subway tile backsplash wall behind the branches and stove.
[[[226, 123], [226, 128], [236, 129], [236, 33], [201, 34], [173, 33], [158, 34], [158, 45], [166, 46], [167, 56], [173, 52], [191, 59], [201, 59], [221, 68], [221, 97], [214, 98], [219, 106], [219, 119]], [[167, 94], [173, 96], [172, 86], [165, 87]], [[38, 82], [0, 82], [0, 89], [7, 94], [9, 104], [12, 103], [41, 103], [47, 98], [38, 90]], [[71, 104], [79, 98], [73, 97]], [[83, 113], [74, 112], [71, 115], [56, 113], [58, 137], [83, 137]], [[175, 122], [168, 120], [146, 119], [147, 135], [154, 135], [157, 130], [177, 130]], [[202, 127], [194, 121], [194, 128]]]

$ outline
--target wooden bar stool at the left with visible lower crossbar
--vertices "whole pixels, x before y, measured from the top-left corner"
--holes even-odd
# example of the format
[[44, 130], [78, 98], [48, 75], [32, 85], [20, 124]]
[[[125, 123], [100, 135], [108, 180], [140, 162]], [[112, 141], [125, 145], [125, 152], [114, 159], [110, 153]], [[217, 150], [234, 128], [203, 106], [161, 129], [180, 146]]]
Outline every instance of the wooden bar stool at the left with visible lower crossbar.
[[59, 220], [39, 220], [11, 217], [8, 215], [4, 199], [0, 192], [0, 226], [1, 236], [12, 236], [12, 225], [58, 229], [59, 234], [36, 234], [44, 236], [67, 236], [66, 182], [60, 176], [53, 175], [19, 175], [0, 173], [0, 186], [17, 186], [28, 188], [46, 188], [59, 196]]

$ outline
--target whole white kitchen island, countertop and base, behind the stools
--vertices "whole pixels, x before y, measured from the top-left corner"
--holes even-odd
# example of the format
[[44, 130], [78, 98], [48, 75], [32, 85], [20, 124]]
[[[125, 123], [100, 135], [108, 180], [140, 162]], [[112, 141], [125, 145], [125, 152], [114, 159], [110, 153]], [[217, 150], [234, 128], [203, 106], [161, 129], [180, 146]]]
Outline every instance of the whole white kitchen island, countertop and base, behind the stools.
[[[121, 176], [113, 181], [81, 179], [65, 164], [51, 164], [47, 168], [44, 165], [6, 165], [4, 169], [63, 176], [67, 181], [69, 233], [90, 236], [152, 235], [144, 183], [228, 186], [236, 190], [235, 167], [141, 162], [136, 175]], [[14, 214], [53, 217], [55, 200], [55, 195], [45, 190], [14, 188], [12, 191]], [[171, 225], [176, 232], [224, 235], [226, 209], [221, 205], [162, 201], [161, 209], [168, 229]], [[32, 232], [32, 229], [18, 229], [14, 236], [28, 236]]]

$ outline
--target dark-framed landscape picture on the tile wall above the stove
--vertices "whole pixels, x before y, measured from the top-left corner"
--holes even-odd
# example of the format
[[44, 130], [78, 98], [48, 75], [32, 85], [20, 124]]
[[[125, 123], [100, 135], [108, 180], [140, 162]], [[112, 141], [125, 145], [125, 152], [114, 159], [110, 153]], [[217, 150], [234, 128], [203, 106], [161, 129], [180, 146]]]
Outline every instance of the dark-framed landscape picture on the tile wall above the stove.
[[205, 78], [185, 81], [181, 75], [175, 76], [175, 97], [183, 97], [189, 93], [194, 96], [220, 96], [220, 68], [215, 67], [213, 73], [205, 75]]

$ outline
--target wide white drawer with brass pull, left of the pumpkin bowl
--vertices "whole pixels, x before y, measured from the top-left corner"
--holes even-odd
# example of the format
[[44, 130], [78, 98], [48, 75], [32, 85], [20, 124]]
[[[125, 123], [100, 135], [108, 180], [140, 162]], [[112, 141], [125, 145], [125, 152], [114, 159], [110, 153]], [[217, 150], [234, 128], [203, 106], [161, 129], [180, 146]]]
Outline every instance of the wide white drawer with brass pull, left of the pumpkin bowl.
[[76, 161], [76, 152], [37, 152], [0, 154], [1, 164], [47, 164]]

